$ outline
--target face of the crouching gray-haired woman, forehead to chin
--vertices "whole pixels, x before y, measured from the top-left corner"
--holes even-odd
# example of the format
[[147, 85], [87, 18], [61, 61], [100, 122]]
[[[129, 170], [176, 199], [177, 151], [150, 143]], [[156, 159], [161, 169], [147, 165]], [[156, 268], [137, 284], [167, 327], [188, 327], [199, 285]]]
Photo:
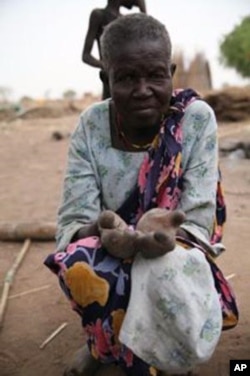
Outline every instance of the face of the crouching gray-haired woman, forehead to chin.
[[134, 128], [157, 125], [172, 94], [170, 58], [163, 41], [121, 46], [108, 71], [115, 109]]

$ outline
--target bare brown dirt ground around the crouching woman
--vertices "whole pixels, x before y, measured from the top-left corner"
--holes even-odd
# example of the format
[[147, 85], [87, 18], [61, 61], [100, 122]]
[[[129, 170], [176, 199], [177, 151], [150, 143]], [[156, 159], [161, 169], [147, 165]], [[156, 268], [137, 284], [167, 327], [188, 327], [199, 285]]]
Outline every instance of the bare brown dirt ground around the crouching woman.
[[[0, 221], [55, 221], [69, 133], [77, 115], [0, 123]], [[54, 131], [65, 136], [56, 141]], [[220, 142], [250, 141], [250, 120], [220, 124]], [[223, 332], [212, 359], [197, 372], [229, 375], [230, 359], [250, 359], [250, 160], [223, 158], [221, 168], [228, 204], [224, 243], [218, 263], [230, 280], [240, 309], [238, 326]], [[22, 243], [0, 242], [0, 292]], [[33, 242], [10, 291], [0, 331], [1, 376], [62, 376], [71, 355], [84, 343], [80, 321], [71, 311], [56, 278], [43, 266], [54, 242]], [[32, 289], [40, 289], [32, 292]], [[23, 292], [27, 294], [17, 296]], [[53, 294], [53, 298], [52, 298]], [[61, 324], [64, 330], [46, 347], [42, 342]], [[140, 376], [140, 375], [138, 375]]]

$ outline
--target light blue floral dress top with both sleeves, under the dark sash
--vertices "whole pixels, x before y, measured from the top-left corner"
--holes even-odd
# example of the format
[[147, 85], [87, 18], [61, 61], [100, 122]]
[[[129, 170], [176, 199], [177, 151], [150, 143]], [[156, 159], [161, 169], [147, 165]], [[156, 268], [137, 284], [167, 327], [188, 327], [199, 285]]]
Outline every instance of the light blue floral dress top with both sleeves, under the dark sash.
[[[217, 123], [212, 109], [203, 101], [191, 103], [182, 130], [184, 189], [178, 208], [186, 213], [183, 227], [198, 229], [209, 239], [218, 166]], [[136, 185], [145, 154], [112, 147], [109, 100], [94, 104], [81, 115], [69, 147], [58, 213], [58, 250], [65, 250], [79, 228], [95, 221], [102, 210], [116, 211], [122, 205]]]

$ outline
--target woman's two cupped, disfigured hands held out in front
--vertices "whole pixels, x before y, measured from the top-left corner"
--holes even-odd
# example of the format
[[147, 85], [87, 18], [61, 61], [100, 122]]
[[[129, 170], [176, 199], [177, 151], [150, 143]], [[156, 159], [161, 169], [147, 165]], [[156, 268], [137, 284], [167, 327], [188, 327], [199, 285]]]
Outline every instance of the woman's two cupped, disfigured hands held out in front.
[[133, 230], [106, 210], [99, 216], [98, 228], [103, 246], [113, 256], [130, 258], [141, 252], [145, 258], [154, 258], [175, 248], [176, 232], [184, 220], [182, 211], [156, 208], [145, 213]]

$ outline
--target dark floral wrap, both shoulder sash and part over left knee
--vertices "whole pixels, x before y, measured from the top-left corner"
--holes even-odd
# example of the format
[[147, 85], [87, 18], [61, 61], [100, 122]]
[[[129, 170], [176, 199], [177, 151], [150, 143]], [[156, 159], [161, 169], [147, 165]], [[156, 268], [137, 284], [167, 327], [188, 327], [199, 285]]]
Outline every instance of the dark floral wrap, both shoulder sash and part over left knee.
[[[183, 184], [180, 120], [185, 106], [195, 98], [192, 91], [175, 93], [172, 112], [142, 163], [136, 196], [129, 196], [118, 210], [128, 223], [135, 223], [151, 207], [177, 207]], [[112, 258], [99, 238], [91, 237], [70, 244], [66, 252], [48, 256], [45, 265], [58, 275], [73, 309], [81, 316], [93, 356], [102, 362], [117, 362], [127, 375], [157, 374], [118, 339], [131, 289], [129, 260]]]

